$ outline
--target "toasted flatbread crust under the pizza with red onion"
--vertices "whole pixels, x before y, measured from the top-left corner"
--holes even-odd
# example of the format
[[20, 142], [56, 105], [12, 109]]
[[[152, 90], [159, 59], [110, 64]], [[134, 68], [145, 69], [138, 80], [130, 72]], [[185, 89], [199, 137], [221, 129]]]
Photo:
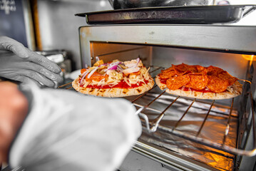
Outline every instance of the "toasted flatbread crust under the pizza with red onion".
[[82, 88], [79, 86], [79, 78], [76, 78], [76, 80], [72, 82], [73, 88], [80, 93], [107, 98], [139, 95], [153, 88], [154, 84], [153, 78], [149, 78], [147, 84], [143, 84], [137, 88]]

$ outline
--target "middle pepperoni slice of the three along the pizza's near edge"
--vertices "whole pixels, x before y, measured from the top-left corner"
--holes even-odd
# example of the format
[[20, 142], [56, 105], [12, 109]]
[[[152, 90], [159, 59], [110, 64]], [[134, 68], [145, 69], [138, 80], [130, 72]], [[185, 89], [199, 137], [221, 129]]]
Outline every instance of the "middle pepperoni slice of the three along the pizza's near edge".
[[190, 75], [190, 83], [186, 85], [188, 88], [195, 90], [203, 90], [208, 85], [208, 76]]

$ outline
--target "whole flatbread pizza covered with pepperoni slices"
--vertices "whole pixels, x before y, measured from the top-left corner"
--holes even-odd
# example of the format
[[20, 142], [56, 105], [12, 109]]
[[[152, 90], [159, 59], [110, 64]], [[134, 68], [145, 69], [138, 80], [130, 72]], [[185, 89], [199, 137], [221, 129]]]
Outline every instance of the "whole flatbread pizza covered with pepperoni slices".
[[172, 65], [156, 76], [155, 83], [167, 93], [190, 98], [225, 99], [242, 93], [238, 79], [215, 66]]

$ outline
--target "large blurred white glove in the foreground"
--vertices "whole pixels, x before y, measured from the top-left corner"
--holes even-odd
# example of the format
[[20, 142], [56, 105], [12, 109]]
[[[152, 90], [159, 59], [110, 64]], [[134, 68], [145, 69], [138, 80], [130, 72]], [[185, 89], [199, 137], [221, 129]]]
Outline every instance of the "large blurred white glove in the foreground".
[[11, 167], [110, 171], [121, 165], [142, 128], [127, 100], [24, 86], [29, 115], [9, 152]]

